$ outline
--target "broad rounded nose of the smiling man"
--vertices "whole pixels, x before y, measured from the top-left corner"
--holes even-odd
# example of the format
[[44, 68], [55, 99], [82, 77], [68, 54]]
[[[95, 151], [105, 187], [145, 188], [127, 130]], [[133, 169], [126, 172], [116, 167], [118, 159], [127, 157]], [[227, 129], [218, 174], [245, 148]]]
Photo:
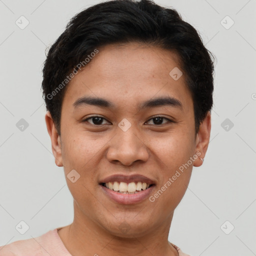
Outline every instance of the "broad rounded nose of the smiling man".
[[109, 141], [106, 154], [109, 162], [120, 162], [129, 166], [135, 161], [147, 161], [148, 147], [144, 144], [142, 136], [132, 126], [134, 125], [126, 131], [117, 127], [116, 135]]

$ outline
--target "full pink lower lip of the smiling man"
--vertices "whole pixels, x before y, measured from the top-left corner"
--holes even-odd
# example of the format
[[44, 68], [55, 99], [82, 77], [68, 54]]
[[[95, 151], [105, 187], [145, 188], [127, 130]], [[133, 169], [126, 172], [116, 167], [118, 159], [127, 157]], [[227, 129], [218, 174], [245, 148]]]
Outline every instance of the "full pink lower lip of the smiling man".
[[141, 190], [138, 193], [135, 194], [122, 194], [118, 193], [114, 190], [111, 190], [105, 186], [101, 186], [101, 189], [103, 189], [103, 192], [109, 196], [112, 200], [122, 203], [122, 204], [131, 204], [131, 203], [139, 203], [145, 198], [148, 197], [148, 195], [151, 193], [152, 189], [154, 188], [154, 185], [151, 185], [145, 190]]

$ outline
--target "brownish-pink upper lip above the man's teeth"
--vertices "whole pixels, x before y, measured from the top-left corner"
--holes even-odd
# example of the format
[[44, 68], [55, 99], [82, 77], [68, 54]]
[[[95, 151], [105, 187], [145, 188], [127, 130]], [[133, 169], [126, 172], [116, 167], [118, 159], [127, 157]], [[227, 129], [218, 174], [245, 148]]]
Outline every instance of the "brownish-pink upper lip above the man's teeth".
[[108, 177], [103, 178], [99, 183], [106, 183], [106, 182], [112, 182], [112, 181], [118, 181], [118, 182], [145, 182], [147, 184], [154, 184], [154, 181], [144, 175], [140, 174], [133, 174], [133, 175], [123, 175], [123, 174], [114, 174], [110, 175]]

